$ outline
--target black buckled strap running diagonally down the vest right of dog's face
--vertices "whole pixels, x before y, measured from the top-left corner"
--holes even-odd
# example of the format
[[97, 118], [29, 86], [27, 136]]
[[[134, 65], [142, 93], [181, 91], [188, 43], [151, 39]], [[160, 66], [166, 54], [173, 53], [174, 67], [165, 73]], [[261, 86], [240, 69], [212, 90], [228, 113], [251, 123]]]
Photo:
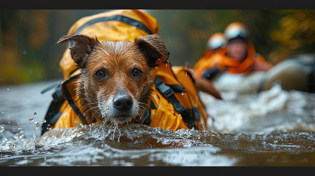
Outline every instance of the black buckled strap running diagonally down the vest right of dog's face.
[[[155, 78], [155, 85], [156, 88], [173, 104], [175, 110], [177, 110], [185, 120], [187, 126], [192, 129], [195, 128], [198, 130], [197, 125], [195, 124], [194, 120], [194, 112], [193, 109], [186, 109], [175, 97], [174, 90], [171, 86], [166, 85], [164, 82], [161, 81], [159, 77], [156, 76]], [[184, 89], [185, 90], [185, 89]]]

